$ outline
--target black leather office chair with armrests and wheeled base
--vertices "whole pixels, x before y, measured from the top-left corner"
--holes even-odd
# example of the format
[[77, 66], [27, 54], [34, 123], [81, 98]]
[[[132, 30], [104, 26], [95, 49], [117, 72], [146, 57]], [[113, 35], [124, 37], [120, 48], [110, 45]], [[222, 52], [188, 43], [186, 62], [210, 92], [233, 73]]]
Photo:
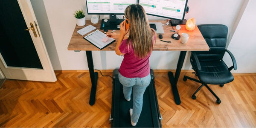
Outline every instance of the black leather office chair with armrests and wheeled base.
[[[223, 87], [224, 84], [234, 80], [230, 70], [237, 69], [236, 60], [233, 54], [229, 50], [225, 49], [227, 44], [228, 28], [221, 24], [203, 24], [198, 25], [198, 29], [202, 33], [210, 49], [209, 51], [191, 52], [190, 63], [199, 80], [184, 76], [183, 81], [190, 79], [202, 84], [192, 95], [192, 99], [196, 99], [195, 94], [201, 89], [201, 87], [205, 86], [213, 96], [215, 96], [217, 99], [216, 102], [220, 104], [221, 100], [207, 84], [219, 84]], [[231, 67], [227, 67], [222, 60], [225, 52], [230, 55], [233, 61], [233, 66]]]

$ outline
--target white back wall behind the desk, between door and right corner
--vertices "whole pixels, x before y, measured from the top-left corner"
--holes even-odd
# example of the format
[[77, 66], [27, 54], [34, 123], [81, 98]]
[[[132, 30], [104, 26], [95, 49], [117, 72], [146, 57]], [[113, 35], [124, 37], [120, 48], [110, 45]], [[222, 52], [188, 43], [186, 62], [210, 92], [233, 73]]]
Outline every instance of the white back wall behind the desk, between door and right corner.
[[[235, 31], [233, 30], [233, 26], [235, 22], [238, 21], [237, 18], [243, 5], [244, 0], [189, 0], [188, 6], [190, 9], [185, 18], [189, 19], [195, 17], [198, 25], [208, 23], [227, 25], [230, 35], [230, 33], [234, 33]], [[33, 7], [34, 6], [35, 5], [33, 5]], [[42, 32], [42, 35], [44, 37], [44, 35], [52, 34], [53, 42], [50, 44], [46, 43], [46, 46], [53, 45], [52, 43], [55, 45], [55, 47], [47, 47], [48, 51], [54, 51], [52, 49], [57, 51], [57, 53], [49, 52], [54, 70], [88, 70], [84, 51], [74, 52], [67, 50], [67, 46], [76, 26], [76, 19], [73, 17], [73, 12], [77, 9], [86, 10], [85, 0], [44, 0], [44, 5], [40, 4], [37, 6], [45, 8], [46, 16], [44, 16], [44, 18], [49, 20], [50, 29]], [[40, 12], [40, 10], [38, 11]], [[36, 11], [35, 14], [37, 14]], [[91, 15], [86, 15], [88, 20], [90, 17]], [[103, 15], [101, 15], [101, 17], [103, 17]], [[165, 19], [154, 16], [148, 16], [148, 18], [149, 20]], [[44, 24], [45, 22], [41, 23]], [[240, 37], [240, 35], [236, 36], [237, 38]], [[252, 38], [248, 40], [253, 41]], [[230, 45], [232, 43], [233, 40], [231, 40]], [[228, 49], [233, 53], [238, 52], [236, 49], [229, 47]], [[247, 52], [253, 53], [253, 51], [248, 50]], [[56, 57], [56, 54], [58, 57]], [[183, 69], [185, 70], [191, 69], [189, 55], [190, 52], [188, 52], [184, 62]], [[177, 51], [153, 51], [150, 57], [150, 66], [152, 69], [176, 69], [178, 56], [179, 52]], [[53, 60], [59, 60], [59, 64]], [[240, 62], [239, 58], [237, 58], [237, 61]], [[122, 57], [117, 56], [113, 51], [93, 51], [93, 63], [96, 69], [115, 69], [120, 66], [121, 62]], [[239, 67], [244, 64], [244, 62], [241, 63]], [[252, 63], [256, 64], [255, 61]], [[237, 71], [243, 72], [242, 70]], [[248, 72], [256, 72], [256, 70], [250, 70]]]

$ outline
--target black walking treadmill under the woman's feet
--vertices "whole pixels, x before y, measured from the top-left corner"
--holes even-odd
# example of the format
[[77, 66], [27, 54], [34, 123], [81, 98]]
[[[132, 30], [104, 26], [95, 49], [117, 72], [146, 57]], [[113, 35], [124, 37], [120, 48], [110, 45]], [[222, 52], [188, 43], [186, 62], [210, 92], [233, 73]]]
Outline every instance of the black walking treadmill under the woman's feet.
[[143, 108], [139, 121], [136, 126], [131, 125], [131, 116], [129, 109], [133, 107], [133, 91], [131, 100], [128, 102], [123, 95], [122, 84], [118, 79], [118, 69], [113, 70], [113, 91], [112, 91], [112, 108], [109, 121], [111, 127], [119, 128], [153, 128], [162, 127], [162, 116], [159, 111], [157, 102], [157, 93], [154, 86], [154, 72], [150, 69], [151, 82], [143, 95]]

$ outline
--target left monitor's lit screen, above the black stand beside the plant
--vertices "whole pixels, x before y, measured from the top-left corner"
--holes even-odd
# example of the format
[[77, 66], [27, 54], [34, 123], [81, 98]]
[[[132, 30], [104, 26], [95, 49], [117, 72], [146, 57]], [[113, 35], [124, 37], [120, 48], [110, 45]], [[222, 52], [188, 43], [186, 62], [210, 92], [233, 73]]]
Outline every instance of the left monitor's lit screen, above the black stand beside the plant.
[[87, 13], [90, 14], [124, 14], [125, 8], [136, 4], [137, 0], [86, 0]]

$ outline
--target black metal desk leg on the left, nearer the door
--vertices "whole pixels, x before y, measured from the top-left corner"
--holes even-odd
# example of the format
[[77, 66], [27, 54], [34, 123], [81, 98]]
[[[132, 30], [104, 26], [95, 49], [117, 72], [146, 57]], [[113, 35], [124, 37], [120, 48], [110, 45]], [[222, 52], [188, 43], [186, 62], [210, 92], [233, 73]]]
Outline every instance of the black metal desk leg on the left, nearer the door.
[[87, 57], [87, 63], [88, 63], [89, 72], [90, 72], [90, 79], [91, 79], [91, 82], [92, 82], [89, 104], [94, 105], [95, 95], [96, 95], [96, 88], [97, 88], [98, 73], [97, 72], [94, 73], [92, 51], [86, 51], [86, 57]]

